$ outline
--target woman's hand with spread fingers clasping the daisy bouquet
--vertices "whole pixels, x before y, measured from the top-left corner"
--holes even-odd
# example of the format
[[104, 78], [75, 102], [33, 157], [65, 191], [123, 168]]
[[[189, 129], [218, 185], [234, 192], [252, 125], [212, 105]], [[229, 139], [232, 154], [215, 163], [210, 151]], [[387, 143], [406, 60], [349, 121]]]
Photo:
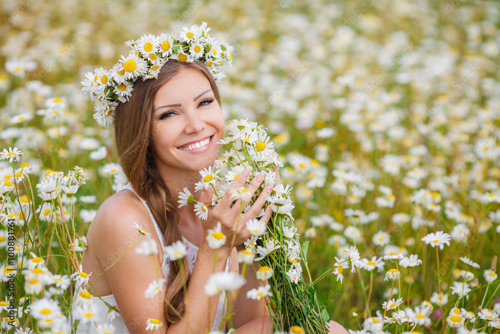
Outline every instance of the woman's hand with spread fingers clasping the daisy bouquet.
[[[237, 246], [242, 244], [246, 239], [248, 239], [251, 234], [246, 229], [246, 222], [250, 219], [256, 218], [260, 209], [263, 207], [265, 203], [265, 198], [269, 195], [270, 190], [274, 186], [273, 184], [266, 187], [260, 195], [257, 197], [253, 205], [248, 209], [245, 213], [241, 213], [241, 209], [244, 208], [251, 200], [252, 196], [255, 194], [255, 191], [258, 189], [260, 184], [264, 179], [264, 173], [261, 173], [253, 178], [251, 182], [246, 187], [248, 191], [248, 196], [246, 199], [241, 200], [238, 199], [236, 203], [231, 207], [233, 200], [231, 196], [233, 192], [237, 189], [241, 188], [245, 181], [250, 176], [251, 168], [248, 167], [244, 172], [242, 172], [236, 180], [231, 184], [231, 186], [227, 189], [225, 194], [219, 200], [219, 202], [210, 210], [208, 210], [208, 218], [206, 221], [202, 221], [203, 223], [203, 235], [206, 235], [206, 230], [213, 228], [217, 225], [217, 222], [221, 224], [221, 231], [227, 237], [226, 244], [222, 246], [223, 248], [230, 250], [233, 235], [236, 234], [234, 238], [234, 244], [232, 246]], [[203, 196], [201, 202], [205, 204], [207, 207], [211, 205], [212, 202], [212, 190], [211, 188], [203, 191]], [[269, 218], [271, 216], [272, 210], [270, 206], [266, 207], [264, 215], [260, 217], [260, 221], [263, 221], [267, 224]], [[238, 221], [238, 216], [239, 221]], [[236, 226], [237, 225], [237, 226]]]

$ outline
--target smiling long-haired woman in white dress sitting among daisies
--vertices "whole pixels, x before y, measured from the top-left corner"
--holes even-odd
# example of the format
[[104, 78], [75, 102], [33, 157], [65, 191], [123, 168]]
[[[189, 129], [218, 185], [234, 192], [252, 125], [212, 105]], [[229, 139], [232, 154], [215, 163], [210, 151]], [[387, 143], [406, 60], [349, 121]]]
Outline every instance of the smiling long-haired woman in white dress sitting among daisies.
[[[118, 161], [129, 183], [102, 203], [86, 235], [88, 247], [83, 253], [82, 269], [92, 273], [90, 292], [104, 300], [93, 297], [95, 322], [111, 323], [118, 333], [149, 332], [148, 319], [163, 324], [155, 333], [204, 333], [206, 328], [218, 328], [223, 316], [223, 295], [209, 298], [204, 285], [213, 270], [240, 270], [237, 249], [242, 249], [241, 244], [250, 233], [244, 224], [235, 229], [240, 205], [231, 207], [230, 191], [209, 210], [207, 220], [200, 220], [190, 207], [178, 209], [176, 205], [183, 187], [206, 205], [212, 201], [211, 190], [194, 192], [194, 182], [200, 178], [198, 171], [217, 159], [217, 142], [224, 136], [220, 97], [205, 64], [198, 60], [169, 60], [157, 79], [137, 80], [129, 101], [116, 107], [114, 134]], [[275, 172], [279, 183], [277, 169]], [[241, 173], [230, 189], [241, 187], [250, 175], [250, 170]], [[251, 178], [247, 190], [253, 194], [263, 177], [253, 174]], [[263, 191], [240, 221], [255, 218], [266, 196]], [[243, 202], [243, 207], [247, 202]], [[269, 209], [270, 206], [260, 220], [268, 221]], [[138, 229], [132, 227], [134, 222], [141, 226], [144, 235], [139, 236]], [[217, 222], [228, 238], [215, 255], [205, 236]], [[229, 236], [233, 234], [236, 247], [231, 249]], [[187, 255], [181, 266], [170, 262], [161, 247], [154, 256], [137, 254], [135, 249], [147, 235], [162, 246], [182, 240]], [[161, 295], [144, 295], [148, 285], [160, 278], [166, 279], [166, 283], [160, 284], [160, 294], [174, 309], [167, 306]], [[259, 286], [254, 278], [248, 270], [247, 283], [234, 301], [232, 327], [237, 333], [260, 333], [263, 321], [264, 332], [272, 332], [272, 320], [262, 302], [246, 298], [247, 290]], [[112, 320], [112, 316], [106, 316], [108, 311], [115, 312], [110, 306], [119, 310], [119, 316]], [[95, 332], [95, 324], [82, 324], [78, 330]], [[331, 322], [330, 332], [346, 331]]]

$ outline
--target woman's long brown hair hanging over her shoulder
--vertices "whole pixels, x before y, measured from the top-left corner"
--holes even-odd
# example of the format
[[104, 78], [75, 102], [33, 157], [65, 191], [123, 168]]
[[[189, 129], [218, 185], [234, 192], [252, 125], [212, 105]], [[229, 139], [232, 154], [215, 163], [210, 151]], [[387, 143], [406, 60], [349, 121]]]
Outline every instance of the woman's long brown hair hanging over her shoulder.
[[[153, 100], [158, 89], [167, 81], [174, 78], [180, 71], [190, 69], [199, 71], [210, 82], [215, 99], [220, 104], [219, 93], [215, 81], [208, 69], [201, 61], [181, 63], [169, 60], [163, 65], [157, 79], [140, 78], [133, 85], [132, 96], [126, 103], [116, 106], [114, 117], [114, 140], [118, 153], [118, 162], [137, 194], [142, 197], [156, 220], [165, 245], [182, 240], [178, 226], [179, 212], [176, 204], [170, 199], [170, 193], [156, 168], [153, 154], [149, 147], [151, 114]], [[179, 274], [180, 267], [177, 261], [170, 262], [170, 271], [166, 299], [175, 308], [165, 305], [165, 315], [169, 323], [180, 320], [178, 314], [184, 314], [183, 284], [189, 283], [189, 268], [187, 259], [182, 258], [184, 277]]]

